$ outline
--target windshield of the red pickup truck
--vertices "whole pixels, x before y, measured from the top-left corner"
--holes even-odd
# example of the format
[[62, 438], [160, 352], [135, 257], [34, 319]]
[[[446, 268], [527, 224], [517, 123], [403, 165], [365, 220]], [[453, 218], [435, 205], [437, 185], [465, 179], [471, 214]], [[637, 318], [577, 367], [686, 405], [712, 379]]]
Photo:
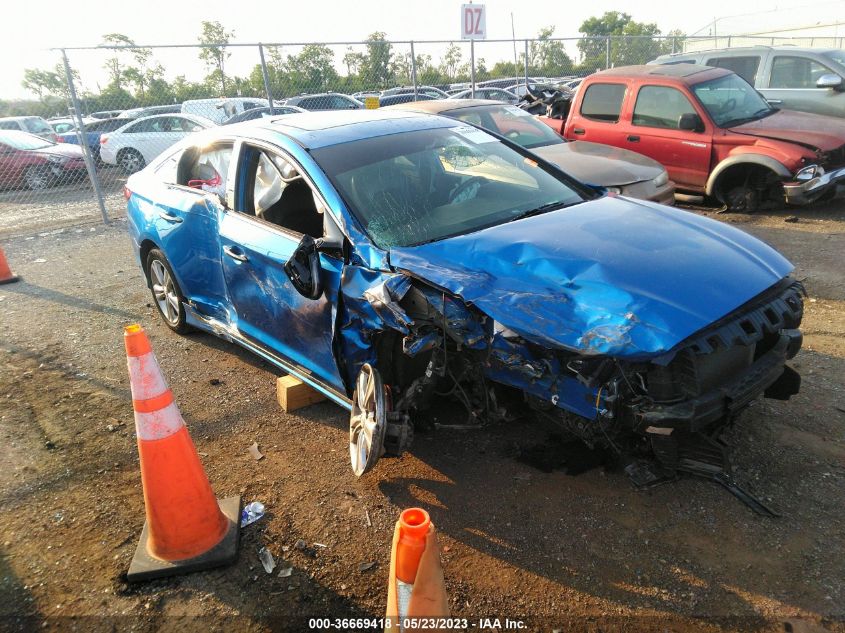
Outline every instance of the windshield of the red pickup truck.
[[719, 127], [762, 119], [776, 110], [739, 75], [725, 75], [692, 87], [701, 105]]

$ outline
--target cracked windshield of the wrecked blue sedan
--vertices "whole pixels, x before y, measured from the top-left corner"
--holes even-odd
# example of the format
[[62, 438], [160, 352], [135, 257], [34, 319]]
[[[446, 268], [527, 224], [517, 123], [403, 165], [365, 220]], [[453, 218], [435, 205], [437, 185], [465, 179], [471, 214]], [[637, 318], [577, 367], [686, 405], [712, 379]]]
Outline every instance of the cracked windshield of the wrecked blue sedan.
[[312, 155], [385, 249], [471, 233], [595, 195], [468, 125], [341, 143]]

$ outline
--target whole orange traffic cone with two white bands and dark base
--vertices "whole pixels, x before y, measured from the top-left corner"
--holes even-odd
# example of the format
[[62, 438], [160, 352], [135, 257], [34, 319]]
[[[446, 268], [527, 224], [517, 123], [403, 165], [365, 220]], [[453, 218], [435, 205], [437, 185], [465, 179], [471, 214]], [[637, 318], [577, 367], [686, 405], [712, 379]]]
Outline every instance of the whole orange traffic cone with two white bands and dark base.
[[144, 329], [127, 326], [124, 342], [147, 508], [127, 580], [232, 563], [238, 554], [241, 498], [218, 505]]

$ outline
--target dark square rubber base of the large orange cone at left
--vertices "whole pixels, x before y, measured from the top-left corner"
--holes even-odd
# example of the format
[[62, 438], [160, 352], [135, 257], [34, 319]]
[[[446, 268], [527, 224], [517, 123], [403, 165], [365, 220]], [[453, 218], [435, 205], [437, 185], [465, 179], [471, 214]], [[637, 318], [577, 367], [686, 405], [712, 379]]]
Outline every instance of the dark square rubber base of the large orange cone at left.
[[188, 574], [194, 571], [222, 567], [234, 563], [238, 557], [241, 498], [228, 497], [222, 501], [218, 501], [218, 503], [220, 504], [220, 511], [223, 512], [223, 515], [229, 522], [229, 529], [226, 531], [226, 536], [210, 550], [194, 558], [169, 561], [152, 556], [147, 551], [147, 524], [144, 523], [144, 529], [141, 532], [141, 542], [138, 543], [138, 549], [135, 550], [132, 564], [129, 565], [126, 580], [129, 582], [143, 582], [145, 580], [152, 580], [153, 578]]

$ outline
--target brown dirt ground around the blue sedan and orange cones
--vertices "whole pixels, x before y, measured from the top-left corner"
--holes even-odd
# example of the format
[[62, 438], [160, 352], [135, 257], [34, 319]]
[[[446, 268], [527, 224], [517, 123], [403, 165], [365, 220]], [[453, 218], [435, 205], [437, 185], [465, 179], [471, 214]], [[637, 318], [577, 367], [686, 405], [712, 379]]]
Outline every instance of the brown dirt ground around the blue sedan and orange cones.
[[[393, 524], [421, 505], [470, 630], [510, 618], [538, 631], [845, 631], [845, 204], [697, 212], [775, 245], [809, 292], [801, 393], [756, 402], [730, 433], [737, 478], [780, 518], [703, 480], [638, 491], [601, 466], [568, 474], [586, 449], [539, 423], [438, 429], [356, 479], [343, 410], [282, 413], [276, 369], [161, 324], [124, 221], [6, 223], [16, 237], [0, 246], [23, 280], [0, 286], [0, 629], [307, 631], [309, 617], [378, 617]], [[136, 321], [216, 493], [267, 514], [242, 530], [231, 567], [130, 586], [144, 505], [122, 326]], [[265, 573], [262, 545], [289, 577]]]

